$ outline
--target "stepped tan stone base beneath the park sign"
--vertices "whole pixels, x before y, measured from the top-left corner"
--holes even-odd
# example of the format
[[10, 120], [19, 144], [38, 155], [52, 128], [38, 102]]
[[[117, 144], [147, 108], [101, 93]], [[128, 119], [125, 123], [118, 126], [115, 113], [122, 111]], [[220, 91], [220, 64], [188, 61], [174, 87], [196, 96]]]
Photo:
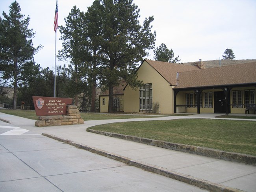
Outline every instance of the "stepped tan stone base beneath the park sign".
[[67, 105], [67, 115], [39, 116], [35, 122], [37, 127], [84, 124], [76, 105]]

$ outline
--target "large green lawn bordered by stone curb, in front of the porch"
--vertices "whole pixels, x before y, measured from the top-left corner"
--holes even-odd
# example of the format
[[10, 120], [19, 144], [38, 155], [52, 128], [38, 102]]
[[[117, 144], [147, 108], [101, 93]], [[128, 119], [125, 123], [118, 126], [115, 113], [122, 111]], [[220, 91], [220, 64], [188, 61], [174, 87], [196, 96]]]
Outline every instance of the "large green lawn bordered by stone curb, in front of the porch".
[[256, 122], [181, 119], [105, 124], [89, 129], [256, 155]]

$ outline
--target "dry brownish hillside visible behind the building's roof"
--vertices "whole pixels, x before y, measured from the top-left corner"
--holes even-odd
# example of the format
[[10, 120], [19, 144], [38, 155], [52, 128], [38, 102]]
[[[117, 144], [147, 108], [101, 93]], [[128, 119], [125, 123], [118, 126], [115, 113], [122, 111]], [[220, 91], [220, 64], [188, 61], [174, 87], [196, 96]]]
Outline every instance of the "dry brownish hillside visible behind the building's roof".
[[[199, 59], [198, 59], [199, 61]], [[194, 62], [188, 62], [188, 63], [183, 63], [184, 65], [191, 65]], [[212, 60], [212, 61], [202, 61], [205, 65], [205, 68], [213, 68], [213, 67], [218, 67], [219, 66], [219, 60]], [[243, 64], [243, 63], [252, 63], [256, 62], [256, 59], [242, 59], [242, 60], [230, 60], [230, 59], [221, 59], [221, 66], [226, 66], [226, 65], [236, 65], [236, 64]]]

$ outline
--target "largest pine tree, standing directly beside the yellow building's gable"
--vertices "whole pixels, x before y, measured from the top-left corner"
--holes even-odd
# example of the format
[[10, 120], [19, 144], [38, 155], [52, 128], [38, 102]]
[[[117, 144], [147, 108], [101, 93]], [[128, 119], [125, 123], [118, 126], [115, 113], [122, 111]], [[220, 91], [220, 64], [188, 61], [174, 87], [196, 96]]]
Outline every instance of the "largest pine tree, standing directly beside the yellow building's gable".
[[[147, 50], [154, 48], [156, 32], [151, 32], [150, 23], [154, 17], [144, 20], [143, 26], [139, 24], [139, 9], [132, 0], [96, 0], [98, 6], [95, 14], [100, 15], [97, 21], [101, 26], [97, 43], [100, 48], [99, 59], [101, 63], [101, 82], [108, 87], [108, 112], [113, 112], [113, 87], [121, 79], [137, 86], [135, 69], [137, 63], [148, 55]], [[91, 10], [88, 9], [90, 12]]]

